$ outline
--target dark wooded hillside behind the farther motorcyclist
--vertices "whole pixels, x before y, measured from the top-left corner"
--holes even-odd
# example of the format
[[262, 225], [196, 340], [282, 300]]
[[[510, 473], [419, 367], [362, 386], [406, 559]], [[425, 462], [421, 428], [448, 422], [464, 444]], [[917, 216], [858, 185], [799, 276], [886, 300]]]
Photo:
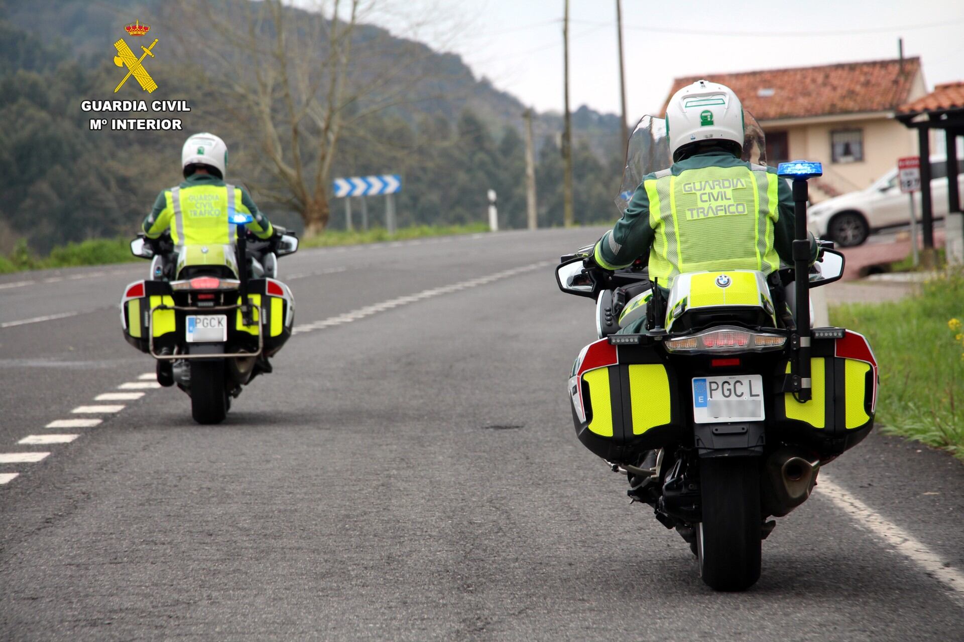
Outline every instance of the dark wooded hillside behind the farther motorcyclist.
[[[0, 132], [0, 252], [10, 251], [16, 238], [45, 250], [67, 241], [131, 233], [154, 195], [178, 180], [177, 154], [191, 131], [217, 131], [230, 141], [229, 171], [244, 176], [255, 198], [267, 203], [282, 224], [300, 228], [286, 186], [265, 173], [257, 119], [235, 109], [230, 99], [232, 83], [254, 76], [254, 57], [219, 38], [204, 22], [204, 13], [190, 13], [199, 6], [186, 4], [185, 13], [180, 3], [163, 0], [0, 1], [0, 118], [16, 125]], [[229, 24], [243, 24], [246, 12], [260, 6], [216, 0], [202, 7], [212, 7], [211, 13]], [[299, 28], [310, 22], [301, 10], [283, 12]], [[80, 109], [85, 99], [148, 98], [134, 81], [130, 89], [113, 92], [120, 76], [112, 44], [125, 37], [123, 25], [135, 18], [151, 24], [150, 36], [159, 39], [149, 70], [162, 89], [149, 98], [186, 100], [191, 112], [128, 117], [179, 117], [183, 132], [92, 132], [92, 115]], [[259, 29], [263, 38], [258, 46], [270, 43], [272, 24]], [[305, 64], [323, 60], [324, 35], [306, 42]], [[394, 38], [379, 27], [360, 25], [352, 43], [355, 60], [363, 62], [352, 82], [375, 89], [351, 105], [350, 115], [358, 115], [358, 122], [353, 120], [340, 136], [332, 175], [402, 173], [402, 224], [481, 218], [485, 191], [494, 187], [509, 225], [521, 226], [522, 103], [477, 78], [459, 56]], [[404, 67], [398, 64], [403, 60]], [[398, 65], [399, 73], [387, 74], [383, 81], [378, 70], [391, 64]], [[393, 100], [395, 96], [403, 99]], [[281, 109], [281, 102], [272, 107]], [[576, 219], [611, 218], [609, 194], [621, 166], [619, 118], [582, 107], [573, 124]], [[541, 224], [557, 224], [562, 117], [537, 115], [534, 129]], [[309, 155], [307, 162], [319, 159]], [[329, 206], [333, 224], [340, 223], [341, 204]], [[328, 216], [326, 211], [326, 220]]]

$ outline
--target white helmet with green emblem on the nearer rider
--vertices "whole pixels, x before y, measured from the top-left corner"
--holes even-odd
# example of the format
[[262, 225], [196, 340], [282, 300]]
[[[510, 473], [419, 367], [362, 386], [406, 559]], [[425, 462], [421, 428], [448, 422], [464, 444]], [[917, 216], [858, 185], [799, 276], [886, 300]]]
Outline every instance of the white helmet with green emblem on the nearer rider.
[[698, 80], [669, 99], [666, 129], [674, 162], [677, 151], [694, 142], [733, 141], [742, 149], [743, 105], [729, 87]]

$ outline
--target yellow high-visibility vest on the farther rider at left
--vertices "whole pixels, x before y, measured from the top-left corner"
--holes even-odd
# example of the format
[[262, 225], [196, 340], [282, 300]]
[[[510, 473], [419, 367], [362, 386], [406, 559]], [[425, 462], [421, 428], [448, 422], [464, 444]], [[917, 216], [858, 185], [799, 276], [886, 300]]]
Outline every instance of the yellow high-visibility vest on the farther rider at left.
[[176, 245], [234, 243], [237, 235], [228, 212], [251, 214], [241, 202], [240, 188], [233, 185], [176, 187], [165, 196], [174, 212], [171, 238]]

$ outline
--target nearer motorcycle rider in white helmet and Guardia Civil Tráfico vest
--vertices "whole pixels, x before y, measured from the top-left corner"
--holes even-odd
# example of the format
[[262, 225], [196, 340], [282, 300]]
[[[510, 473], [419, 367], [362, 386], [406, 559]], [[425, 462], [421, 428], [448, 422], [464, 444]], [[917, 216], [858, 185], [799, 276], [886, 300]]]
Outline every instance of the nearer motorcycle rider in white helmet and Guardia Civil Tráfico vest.
[[[650, 279], [668, 289], [681, 272], [792, 265], [793, 197], [774, 167], [740, 160], [743, 107], [728, 87], [700, 80], [666, 106], [673, 165], [643, 177], [589, 263], [604, 270], [649, 255]], [[817, 243], [811, 238], [811, 259]], [[645, 332], [645, 315], [624, 333]]]

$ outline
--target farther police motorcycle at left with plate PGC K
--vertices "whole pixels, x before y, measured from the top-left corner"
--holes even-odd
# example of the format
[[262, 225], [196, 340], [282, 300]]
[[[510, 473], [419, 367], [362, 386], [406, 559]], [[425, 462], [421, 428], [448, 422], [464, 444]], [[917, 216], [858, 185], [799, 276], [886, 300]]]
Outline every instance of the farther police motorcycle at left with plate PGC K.
[[[199, 424], [220, 424], [231, 398], [255, 376], [272, 372], [269, 358], [291, 336], [294, 297], [278, 280], [278, 259], [298, 250], [298, 237], [275, 226], [261, 241], [231, 212], [234, 245], [178, 245], [169, 235], [138, 235], [131, 253], [151, 260], [151, 278], [127, 285], [120, 323], [131, 346], [157, 360], [157, 382], [191, 398]], [[232, 235], [233, 236], [233, 235]]]

